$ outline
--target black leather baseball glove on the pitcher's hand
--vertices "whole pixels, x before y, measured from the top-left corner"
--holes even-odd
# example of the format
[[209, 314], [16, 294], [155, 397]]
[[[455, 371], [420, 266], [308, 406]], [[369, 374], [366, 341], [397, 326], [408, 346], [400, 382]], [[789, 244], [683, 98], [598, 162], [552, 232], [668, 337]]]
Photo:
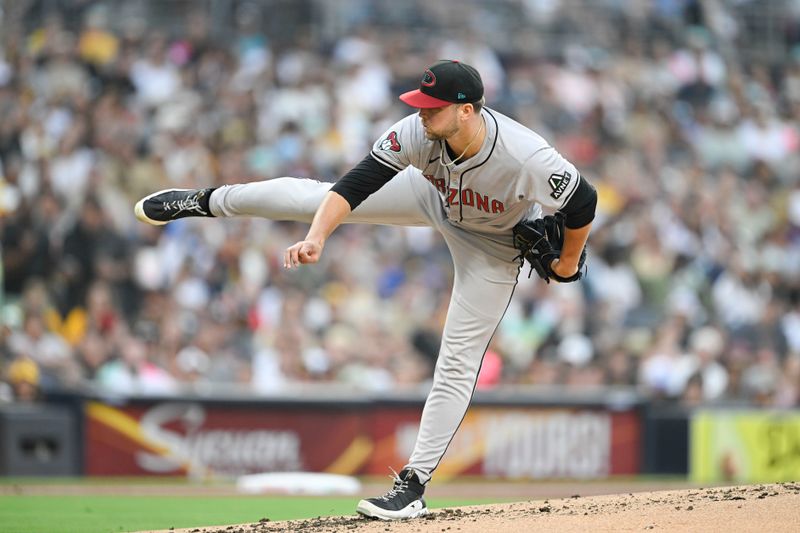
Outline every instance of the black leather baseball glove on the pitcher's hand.
[[523, 220], [514, 226], [512, 232], [514, 248], [519, 250], [519, 255], [514, 259], [524, 262], [524, 258], [531, 264], [528, 277], [531, 277], [534, 270], [547, 283], [550, 283], [551, 279], [559, 283], [569, 283], [583, 277], [582, 269], [586, 262], [585, 246], [581, 251], [578, 271], [575, 274], [565, 278], [550, 268], [550, 263], [561, 256], [561, 248], [564, 246], [564, 214], [560, 211], [536, 220]]

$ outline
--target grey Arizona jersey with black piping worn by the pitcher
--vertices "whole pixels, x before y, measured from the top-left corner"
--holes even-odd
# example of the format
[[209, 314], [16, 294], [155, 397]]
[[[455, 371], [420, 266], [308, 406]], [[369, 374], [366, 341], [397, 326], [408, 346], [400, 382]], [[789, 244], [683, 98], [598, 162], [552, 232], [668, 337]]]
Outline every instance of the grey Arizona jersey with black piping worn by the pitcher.
[[483, 108], [486, 138], [478, 153], [453, 164], [444, 141], [425, 137], [419, 115], [394, 124], [372, 156], [400, 171], [413, 166], [436, 188], [448, 219], [465, 229], [507, 233], [524, 217], [561, 208], [577, 188], [575, 167], [535, 132]]

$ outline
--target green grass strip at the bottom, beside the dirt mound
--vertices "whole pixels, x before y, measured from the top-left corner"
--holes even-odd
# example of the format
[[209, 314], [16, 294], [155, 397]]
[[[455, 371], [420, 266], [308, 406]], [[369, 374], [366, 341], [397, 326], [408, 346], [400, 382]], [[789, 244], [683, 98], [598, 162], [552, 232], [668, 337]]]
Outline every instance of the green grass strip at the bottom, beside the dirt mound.
[[[112, 533], [352, 515], [353, 497], [0, 496], [3, 533]], [[433, 499], [430, 507], [497, 503]]]

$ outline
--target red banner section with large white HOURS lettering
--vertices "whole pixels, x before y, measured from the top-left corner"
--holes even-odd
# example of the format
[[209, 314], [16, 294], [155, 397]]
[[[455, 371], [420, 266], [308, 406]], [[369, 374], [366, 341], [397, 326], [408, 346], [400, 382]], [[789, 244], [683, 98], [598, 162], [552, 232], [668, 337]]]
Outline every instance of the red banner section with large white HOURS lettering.
[[[369, 473], [403, 465], [411, 455], [419, 416], [381, 413], [372, 425]], [[436, 470], [498, 478], [602, 478], [639, 472], [641, 426], [634, 411], [474, 407]]]

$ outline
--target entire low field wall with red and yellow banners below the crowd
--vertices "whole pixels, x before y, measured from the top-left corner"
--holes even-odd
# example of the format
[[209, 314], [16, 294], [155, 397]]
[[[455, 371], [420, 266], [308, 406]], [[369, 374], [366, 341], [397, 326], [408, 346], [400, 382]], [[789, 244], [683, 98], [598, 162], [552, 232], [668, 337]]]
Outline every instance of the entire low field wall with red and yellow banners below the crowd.
[[[416, 437], [424, 392], [282, 397], [64, 395], [0, 407], [0, 475], [190, 476], [309, 471], [384, 475]], [[698, 483], [800, 479], [800, 411], [690, 410], [631, 391], [478, 393], [437, 479]]]

